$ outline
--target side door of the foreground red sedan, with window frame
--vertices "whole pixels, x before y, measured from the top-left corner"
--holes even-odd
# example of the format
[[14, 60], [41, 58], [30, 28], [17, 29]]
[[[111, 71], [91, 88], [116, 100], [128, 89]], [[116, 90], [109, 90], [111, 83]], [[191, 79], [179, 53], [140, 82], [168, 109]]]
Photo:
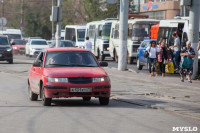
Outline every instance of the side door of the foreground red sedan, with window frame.
[[31, 67], [31, 81], [32, 81], [32, 90], [33, 92], [39, 94], [40, 91], [40, 79], [42, 76], [42, 67], [43, 67], [43, 59], [44, 59], [44, 52], [40, 52], [34, 62], [40, 62], [40, 66], [32, 66]]

